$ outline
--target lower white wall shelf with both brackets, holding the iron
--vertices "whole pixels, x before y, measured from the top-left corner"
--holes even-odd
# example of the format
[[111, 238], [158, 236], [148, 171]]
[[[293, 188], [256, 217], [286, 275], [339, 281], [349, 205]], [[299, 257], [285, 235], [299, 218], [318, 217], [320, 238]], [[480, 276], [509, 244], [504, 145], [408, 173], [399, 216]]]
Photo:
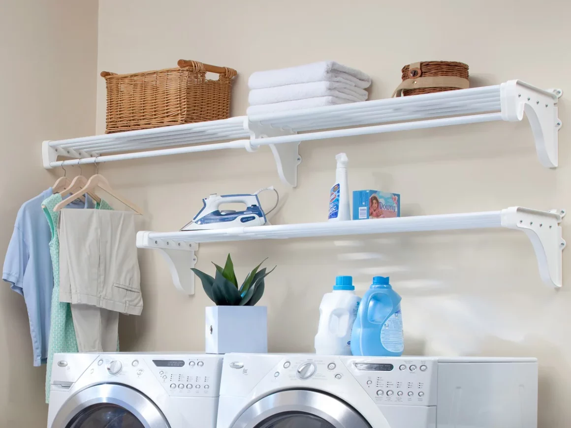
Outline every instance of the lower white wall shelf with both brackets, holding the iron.
[[565, 248], [559, 224], [564, 215], [564, 209], [548, 212], [510, 207], [501, 211], [335, 223], [280, 224], [184, 232], [141, 231], [137, 233], [137, 247], [159, 249], [167, 259], [175, 286], [187, 294], [194, 294], [194, 273], [190, 269], [196, 263], [195, 252], [199, 243], [508, 228], [525, 232], [536, 253], [541, 279], [545, 284], [558, 288], [562, 285], [562, 251]]

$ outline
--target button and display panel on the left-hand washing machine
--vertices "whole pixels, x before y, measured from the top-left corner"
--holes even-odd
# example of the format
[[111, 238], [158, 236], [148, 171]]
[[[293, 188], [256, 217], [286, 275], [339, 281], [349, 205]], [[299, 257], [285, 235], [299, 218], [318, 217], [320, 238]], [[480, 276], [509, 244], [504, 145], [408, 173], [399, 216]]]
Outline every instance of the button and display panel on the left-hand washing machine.
[[218, 356], [196, 358], [147, 358], [147, 364], [168, 395], [218, 397], [222, 360]]

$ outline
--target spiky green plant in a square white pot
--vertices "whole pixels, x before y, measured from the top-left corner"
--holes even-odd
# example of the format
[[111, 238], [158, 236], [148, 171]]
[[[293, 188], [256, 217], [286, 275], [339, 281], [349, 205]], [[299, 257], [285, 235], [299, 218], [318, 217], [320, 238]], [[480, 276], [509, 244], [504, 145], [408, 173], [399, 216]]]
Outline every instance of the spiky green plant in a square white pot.
[[192, 269], [202, 281], [206, 295], [216, 304], [206, 307], [207, 353], [268, 352], [267, 308], [254, 305], [264, 294], [264, 278], [275, 267], [267, 272], [266, 268], [260, 269], [262, 263], [248, 273], [240, 286], [230, 254], [224, 268], [213, 263], [216, 267], [214, 277]]

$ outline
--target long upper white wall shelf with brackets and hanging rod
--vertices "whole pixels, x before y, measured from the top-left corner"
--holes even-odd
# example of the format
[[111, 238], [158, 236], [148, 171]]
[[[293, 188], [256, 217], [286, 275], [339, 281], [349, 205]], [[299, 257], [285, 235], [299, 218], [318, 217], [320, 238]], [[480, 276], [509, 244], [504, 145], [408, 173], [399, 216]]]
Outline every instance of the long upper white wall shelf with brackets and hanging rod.
[[[280, 178], [295, 186], [301, 141], [496, 120], [517, 122], [525, 114], [538, 158], [542, 165], [551, 168], [557, 167], [558, 161], [557, 131], [561, 120], [557, 117], [557, 99], [561, 95], [559, 89], [541, 90], [520, 80], [509, 80], [494, 86], [435, 94], [45, 141], [43, 164], [45, 168], [54, 168], [226, 148], [255, 151], [260, 146], [270, 146]], [[232, 141], [197, 145], [223, 140]], [[58, 161], [58, 156], [78, 160]]]

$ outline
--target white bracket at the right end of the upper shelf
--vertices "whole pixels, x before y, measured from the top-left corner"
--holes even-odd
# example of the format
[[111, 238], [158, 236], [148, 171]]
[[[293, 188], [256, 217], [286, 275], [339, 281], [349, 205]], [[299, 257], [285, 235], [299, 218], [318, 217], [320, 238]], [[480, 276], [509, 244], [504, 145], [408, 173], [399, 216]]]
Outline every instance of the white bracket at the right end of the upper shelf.
[[502, 119], [520, 121], [527, 116], [536, 143], [537, 157], [542, 165], [555, 168], [558, 164], [557, 117], [560, 89], [540, 90], [520, 80], [509, 80], [500, 88]]

